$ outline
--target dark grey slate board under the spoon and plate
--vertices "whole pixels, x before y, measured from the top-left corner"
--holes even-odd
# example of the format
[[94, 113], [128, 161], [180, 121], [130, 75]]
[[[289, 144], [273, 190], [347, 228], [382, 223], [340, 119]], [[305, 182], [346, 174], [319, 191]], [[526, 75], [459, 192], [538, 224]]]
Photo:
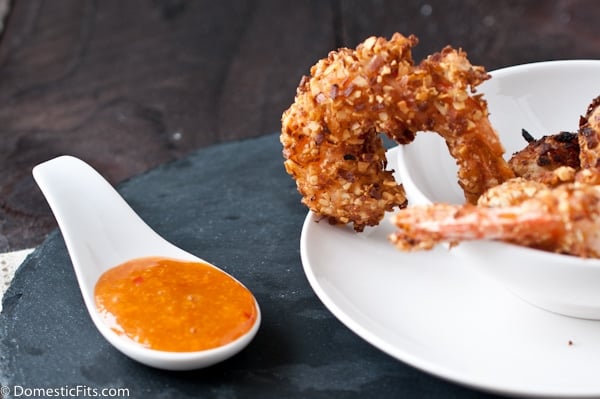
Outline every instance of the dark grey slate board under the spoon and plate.
[[126, 388], [135, 398], [488, 397], [385, 355], [321, 304], [302, 270], [306, 209], [283, 169], [277, 135], [200, 150], [118, 190], [160, 234], [254, 292], [263, 315], [256, 338], [232, 359], [190, 372], [124, 357], [93, 327], [55, 231], [4, 297], [0, 383], [13, 393], [79, 386]]

